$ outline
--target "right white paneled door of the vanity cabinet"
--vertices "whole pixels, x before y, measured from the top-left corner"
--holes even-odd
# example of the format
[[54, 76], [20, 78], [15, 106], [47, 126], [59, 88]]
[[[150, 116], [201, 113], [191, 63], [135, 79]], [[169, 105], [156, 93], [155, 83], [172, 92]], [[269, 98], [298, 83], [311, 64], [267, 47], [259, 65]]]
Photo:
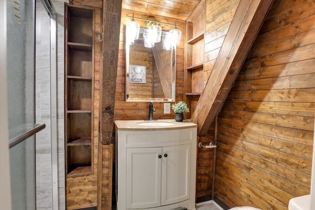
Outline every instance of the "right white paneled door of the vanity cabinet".
[[190, 144], [164, 147], [162, 156], [162, 206], [188, 200]]

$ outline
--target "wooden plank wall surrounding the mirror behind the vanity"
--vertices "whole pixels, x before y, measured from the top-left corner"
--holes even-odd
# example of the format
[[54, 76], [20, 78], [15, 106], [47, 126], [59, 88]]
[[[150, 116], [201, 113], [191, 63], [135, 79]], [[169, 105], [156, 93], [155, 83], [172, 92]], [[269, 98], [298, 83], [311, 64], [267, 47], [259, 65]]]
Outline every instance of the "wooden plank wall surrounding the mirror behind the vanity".
[[[126, 77], [126, 54], [125, 54], [125, 32], [126, 22], [130, 20], [126, 15], [146, 19], [150, 16], [144, 15], [143, 13], [132, 13], [130, 11], [122, 11], [122, 22], [121, 22], [121, 34], [120, 34], [120, 45], [119, 45], [119, 59], [117, 69], [117, 83], [116, 83], [116, 99], [115, 99], [115, 120], [144, 120], [149, 117], [149, 102], [126, 102], [125, 101], [125, 77]], [[158, 21], [162, 23], [175, 24], [174, 19], [167, 17], [157, 17]], [[144, 28], [144, 21], [136, 20], [141, 28]], [[181, 43], [177, 46], [176, 56], [176, 101], [184, 100], [184, 51], [185, 51], [185, 21], [176, 20], [176, 25], [181, 26], [178, 29], [182, 31]], [[173, 26], [161, 25], [162, 30], [168, 31], [173, 29]], [[156, 112], [153, 114], [155, 119], [172, 119], [174, 112], [171, 114], [163, 114], [164, 105], [161, 102], [155, 102], [154, 108]]]

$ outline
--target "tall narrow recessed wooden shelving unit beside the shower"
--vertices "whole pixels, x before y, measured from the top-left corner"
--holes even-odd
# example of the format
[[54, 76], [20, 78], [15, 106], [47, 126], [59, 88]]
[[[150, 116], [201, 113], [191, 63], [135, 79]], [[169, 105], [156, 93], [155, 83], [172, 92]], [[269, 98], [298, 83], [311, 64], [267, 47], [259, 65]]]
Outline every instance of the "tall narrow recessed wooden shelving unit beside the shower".
[[81, 176], [93, 169], [94, 10], [65, 9], [66, 176]]

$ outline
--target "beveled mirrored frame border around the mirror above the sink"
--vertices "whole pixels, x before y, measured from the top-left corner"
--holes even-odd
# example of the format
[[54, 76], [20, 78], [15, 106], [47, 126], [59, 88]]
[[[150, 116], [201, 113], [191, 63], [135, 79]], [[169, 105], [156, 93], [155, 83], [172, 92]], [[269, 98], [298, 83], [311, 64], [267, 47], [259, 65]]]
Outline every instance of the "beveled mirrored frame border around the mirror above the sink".
[[[140, 33], [144, 33], [145, 29], [140, 28]], [[164, 34], [164, 31], [162, 31], [162, 36]], [[161, 39], [162, 42], [162, 39]], [[125, 83], [125, 97], [126, 97], [126, 102], [175, 102], [176, 99], [176, 47], [172, 48], [170, 50], [171, 53], [171, 98], [130, 98], [128, 91], [129, 91], [129, 64], [130, 64], [130, 45], [126, 44], [126, 83]]]

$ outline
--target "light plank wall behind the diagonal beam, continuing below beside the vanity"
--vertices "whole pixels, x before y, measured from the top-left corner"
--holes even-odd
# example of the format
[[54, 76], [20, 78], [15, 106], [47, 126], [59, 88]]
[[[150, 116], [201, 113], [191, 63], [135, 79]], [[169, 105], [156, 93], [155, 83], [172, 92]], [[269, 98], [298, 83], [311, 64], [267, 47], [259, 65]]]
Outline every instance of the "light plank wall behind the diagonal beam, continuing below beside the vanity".
[[[206, 0], [204, 85], [211, 74], [239, 1], [240, 0]], [[207, 135], [205, 137], [198, 137], [198, 143], [203, 142], [205, 145], [209, 145], [210, 142], [215, 142], [215, 128], [216, 123], [214, 120]], [[198, 148], [197, 199], [202, 199], [204, 196], [212, 196], [214, 152], [215, 150], [213, 149]]]

